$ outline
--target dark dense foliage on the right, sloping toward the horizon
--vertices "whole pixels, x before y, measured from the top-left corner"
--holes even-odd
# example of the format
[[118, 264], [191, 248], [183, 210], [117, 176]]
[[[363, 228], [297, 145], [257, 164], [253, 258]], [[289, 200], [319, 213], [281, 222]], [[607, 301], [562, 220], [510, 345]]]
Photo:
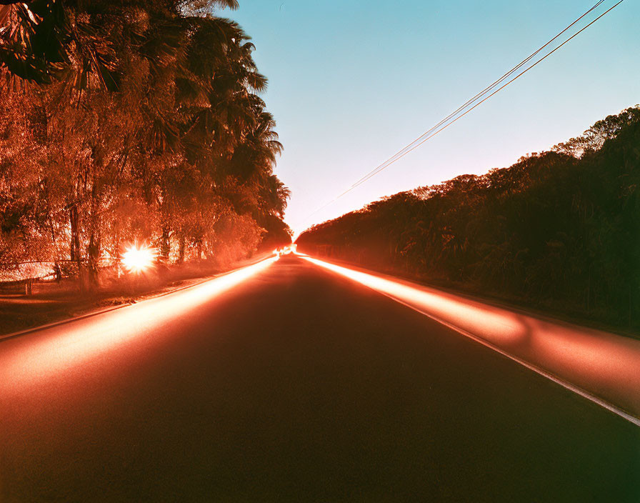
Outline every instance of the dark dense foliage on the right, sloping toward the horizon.
[[376, 201], [299, 249], [640, 327], [640, 109], [552, 151]]

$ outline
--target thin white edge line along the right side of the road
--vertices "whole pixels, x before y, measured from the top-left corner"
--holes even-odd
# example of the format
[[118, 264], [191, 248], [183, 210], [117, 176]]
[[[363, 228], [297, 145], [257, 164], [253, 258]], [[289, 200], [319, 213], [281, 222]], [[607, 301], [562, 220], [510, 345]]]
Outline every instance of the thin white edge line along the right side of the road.
[[[302, 259], [305, 259], [308, 262], [311, 262], [312, 264], [316, 264], [319, 267], [323, 267], [324, 269], [329, 269], [330, 271], [335, 272], [336, 274], [339, 274], [339, 272], [336, 271], [335, 269], [333, 269], [333, 267], [339, 267], [340, 269], [346, 269], [344, 267], [336, 266], [335, 264], [329, 264], [328, 262], [323, 262], [321, 260], [313, 259], [313, 258], [308, 257], [308, 256], [301, 255], [300, 257]], [[326, 267], [324, 264], [331, 265], [332, 267], [331, 268]], [[361, 274], [367, 274], [367, 273], [363, 272]], [[526, 367], [527, 369], [532, 370], [533, 372], [536, 372], [536, 374], [539, 374], [542, 377], [546, 377], [546, 379], [549, 379], [550, 381], [553, 381], [556, 384], [559, 384], [561, 387], [564, 387], [565, 389], [569, 389], [569, 391], [574, 392], [575, 394], [579, 394], [581, 397], [584, 397], [584, 398], [590, 400], [591, 402], [594, 402], [594, 404], [597, 404], [600, 407], [603, 407], [604, 409], [608, 410], [609, 412], [613, 412], [617, 416], [619, 416], [619, 417], [621, 417], [623, 419], [626, 419], [627, 421], [631, 422], [632, 424], [635, 424], [636, 426], [640, 427], [640, 418], [629, 414], [629, 412], [626, 412], [623, 409], [621, 409], [619, 407], [616, 407], [614, 404], [611, 404], [610, 402], [606, 402], [606, 400], [601, 399], [600, 397], [597, 397], [595, 394], [587, 392], [586, 390], [584, 390], [584, 389], [582, 389], [580, 387], [577, 387], [576, 385], [571, 384], [570, 382], [567, 382], [564, 379], [560, 379], [559, 377], [555, 376], [554, 374], [546, 372], [546, 370], [541, 369], [539, 367], [536, 367], [534, 364], [526, 362], [524, 359], [521, 359], [519, 357], [516, 357], [513, 354], [510, 354], [510, 353], [504, 351], [504, 349], [501, 349], [500, 347], [496, 346], [495, 344], [492, 344], [491, 342], [487, 341], [486, 339], [483, 339], [482, 337], [478, 337], [478, 336], [476, 336], [474, 334], [471, 334], [471, 332], [468, 332], [468, 331], [466, 331], [464, 329], [456, 327], [456, 325], [451, 324], [449, 322], [446, 322], [446, 321], [444, 321], [444, 319], [441, 319], [439, 317], [435, 317], [433, 314], [425, 312], [424, 310], [419, 309], [418, 307], [412, 306], [408, 302], [404, 302], [403, 300], [399, 299], [398, 297], [395, 297], [392, 294], [388, 294], [386, 292], [381, 291], [380, 289], [376, 289], [374, 287], [371, 287], [366, 283], [359, 282], [357, 279], [354, 279], [353, 277], [348, 277], [348, 276], [345, 276], [344, 274], [341, 274], [341, 276], [346, 277], [348, 279], [351, 279], [351, 281], [357, 282], [357, 283], [363, 285], [364, 287], [367, 287], [367, 288], [373, 290], [374, 292], [377, 292], [379, 294], [384, 295], [385, 297], [389, 297], [389, 299], [392, 299], [395, 302], [398, 302], [399, 304], [403, 304], [404, 306], [409, 307], [410, 309], [413, 309], [415, 312], [419, 312], [420, 314], [423, 314], [424, 316], [429, 317], [430, 319], [433, 319], [434, 322], [437, 322], [437, 323], [439, 323], [441, 325], [444, 325], [445, 327], [448, 327], [449, 329], [455, 330], [459, 334], [462, 334], [465, 337], [468, 337], [469, 339], [472, 339], [475, 342], [478, 342], [479, 344], [482, 344], [484, 347], [488, 347], [489, 349], [492, 349], [493, 351], [503, 355], [504, 357], [507, 357], [507, 358], [511, 359], [512, 361], [514, 361], [514, 362], [516, 362], [518, 364], [521, 364], [523, 367]]]

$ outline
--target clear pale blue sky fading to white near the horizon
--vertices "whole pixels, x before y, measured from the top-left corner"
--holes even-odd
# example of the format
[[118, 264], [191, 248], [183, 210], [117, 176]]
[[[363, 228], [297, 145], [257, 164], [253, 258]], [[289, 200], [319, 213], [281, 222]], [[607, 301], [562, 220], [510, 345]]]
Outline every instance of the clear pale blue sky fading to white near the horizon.
[[[294, 231], [381, 196], [509, 166], [640, 102], [640, 2], [626, 0], [416, 151], [312, 211], [454, 111], [595, 0], [239, 0], [284, 144]], [[607, 0], [599, 8], [613, 5]]]

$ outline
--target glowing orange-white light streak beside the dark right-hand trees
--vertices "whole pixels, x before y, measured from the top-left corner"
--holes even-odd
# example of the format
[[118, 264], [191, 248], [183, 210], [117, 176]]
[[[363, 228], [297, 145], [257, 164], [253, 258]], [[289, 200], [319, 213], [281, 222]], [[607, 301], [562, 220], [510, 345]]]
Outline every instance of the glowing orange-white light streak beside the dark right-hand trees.
[[640, 426], [640, 341], [300, 257], [426, 314]]

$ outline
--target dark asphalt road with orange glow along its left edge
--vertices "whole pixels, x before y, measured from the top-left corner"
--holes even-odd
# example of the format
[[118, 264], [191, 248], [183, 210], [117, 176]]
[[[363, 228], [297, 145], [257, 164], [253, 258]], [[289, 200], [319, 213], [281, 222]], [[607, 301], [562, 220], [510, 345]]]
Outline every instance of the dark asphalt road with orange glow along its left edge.
[[184, 296], [0, 342], [1, 502], [640, 501], [639, 427], [349, 279]]

